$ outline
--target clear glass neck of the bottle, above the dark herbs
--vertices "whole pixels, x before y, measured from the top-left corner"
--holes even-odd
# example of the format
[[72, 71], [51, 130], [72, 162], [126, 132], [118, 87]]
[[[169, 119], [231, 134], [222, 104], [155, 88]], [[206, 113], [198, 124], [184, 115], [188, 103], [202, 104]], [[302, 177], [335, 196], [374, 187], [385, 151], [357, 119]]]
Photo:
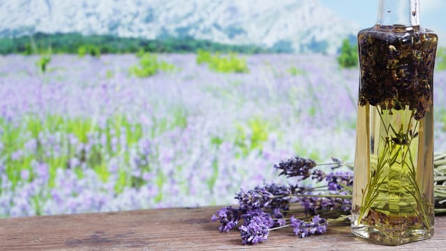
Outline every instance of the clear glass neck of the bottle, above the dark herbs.
[[378, 25], [419, 26], [420, 0], [379, 0]]

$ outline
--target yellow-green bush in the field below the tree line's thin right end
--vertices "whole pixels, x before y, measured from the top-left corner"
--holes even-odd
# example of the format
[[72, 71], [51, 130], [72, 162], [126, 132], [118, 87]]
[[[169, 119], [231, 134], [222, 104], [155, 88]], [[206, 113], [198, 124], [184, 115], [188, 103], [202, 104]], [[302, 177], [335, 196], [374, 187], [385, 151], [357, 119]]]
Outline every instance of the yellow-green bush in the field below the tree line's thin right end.
[[207, 63], [210, 70], [219, 73], [248, 73], [245, 59], [239, 59], [236, 54], [229, 53], [228, 56], [210, 54], [204, 50], [197, 51], [197, 64]]

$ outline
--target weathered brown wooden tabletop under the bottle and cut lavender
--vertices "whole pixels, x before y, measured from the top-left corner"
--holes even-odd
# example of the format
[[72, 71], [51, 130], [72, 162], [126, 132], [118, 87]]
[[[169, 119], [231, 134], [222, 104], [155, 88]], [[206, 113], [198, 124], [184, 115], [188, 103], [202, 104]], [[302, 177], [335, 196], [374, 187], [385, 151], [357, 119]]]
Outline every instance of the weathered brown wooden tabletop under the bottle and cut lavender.
[[349, 227], [297, 238], [272, 231], [266, 243], [241, 245], [240, 233], [220, 233], [217, 207], [0, 219], [0, 250], [446, 250], [446, 217], [427, 241], [388, 247], [354, 238]]

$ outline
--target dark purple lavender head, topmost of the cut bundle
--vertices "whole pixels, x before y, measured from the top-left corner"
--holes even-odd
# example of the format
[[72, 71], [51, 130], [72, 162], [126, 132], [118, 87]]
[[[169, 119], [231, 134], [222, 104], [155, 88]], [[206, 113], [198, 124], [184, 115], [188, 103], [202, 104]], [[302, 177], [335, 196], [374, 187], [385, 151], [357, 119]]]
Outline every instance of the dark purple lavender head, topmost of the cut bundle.
[[297, 156], [285, 162], [282, 161], [274, 167], [281, 171], [279, 176], [298, 177], [299, 181], [302, 181], [311, 175], [310, 170], [316, 167], [316, 162], [310, 158], [306, 159]]

